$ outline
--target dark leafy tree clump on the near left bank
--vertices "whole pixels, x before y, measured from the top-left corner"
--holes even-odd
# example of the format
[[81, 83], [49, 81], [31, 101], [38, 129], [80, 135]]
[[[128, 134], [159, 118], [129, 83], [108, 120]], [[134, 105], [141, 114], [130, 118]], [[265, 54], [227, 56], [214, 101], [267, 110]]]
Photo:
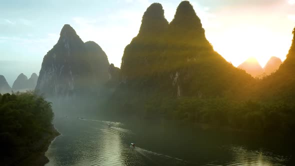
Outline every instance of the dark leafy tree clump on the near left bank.
[[43, 140], [44, 137], [56, 134], [52, 118], [51, 103], [34, 92], [0, 94], [2, 164], [22, 160], [43, 148], [48, 141]]

